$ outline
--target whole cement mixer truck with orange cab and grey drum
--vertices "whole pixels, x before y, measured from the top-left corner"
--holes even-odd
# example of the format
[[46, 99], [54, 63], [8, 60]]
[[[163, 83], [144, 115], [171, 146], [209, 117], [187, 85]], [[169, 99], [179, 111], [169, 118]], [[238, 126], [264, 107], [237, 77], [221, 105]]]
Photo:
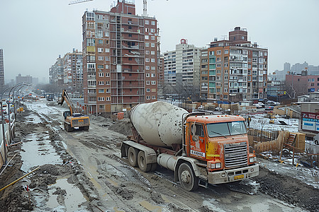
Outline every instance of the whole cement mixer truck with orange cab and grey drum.
[[194, 114], [152, 102], [133, 107], [130, 120], [133, 136], [123, 141], [121, 157], [142, 172], [166, 167], [188, 191], [259, 174], [243, 117]]

